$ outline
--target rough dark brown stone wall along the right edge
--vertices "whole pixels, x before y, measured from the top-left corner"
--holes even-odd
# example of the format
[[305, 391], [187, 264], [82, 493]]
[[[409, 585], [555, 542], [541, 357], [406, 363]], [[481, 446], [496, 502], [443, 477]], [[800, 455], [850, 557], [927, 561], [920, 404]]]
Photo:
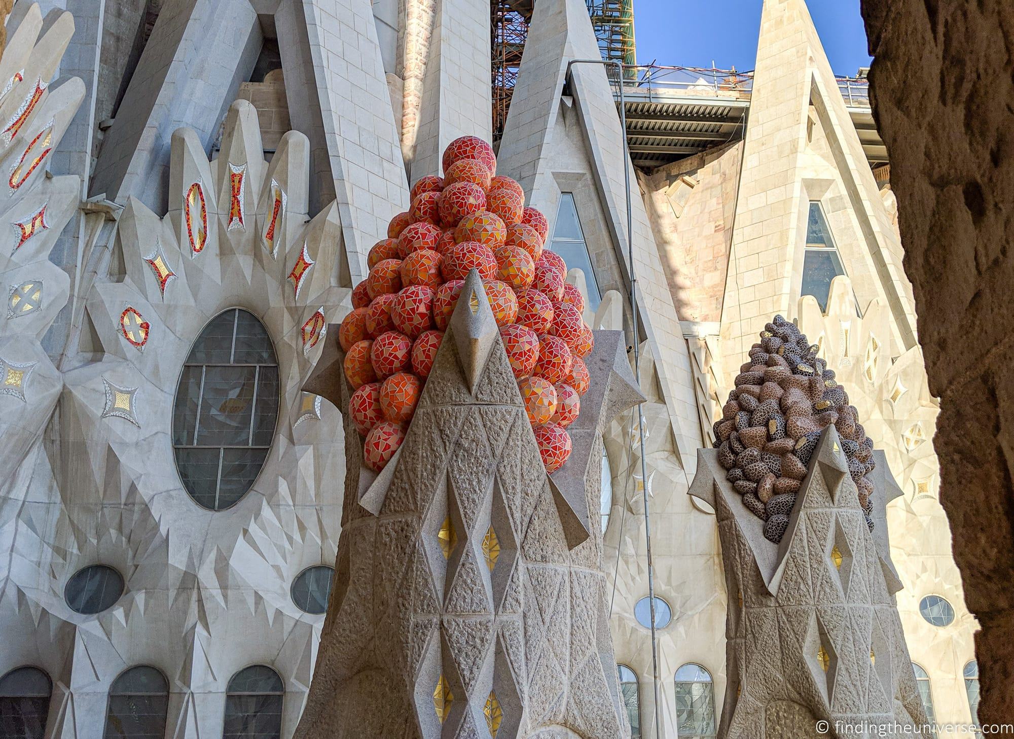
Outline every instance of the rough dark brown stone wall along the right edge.
[[1014, 716], [1014, 6], [864, 0], [984, 723]]

